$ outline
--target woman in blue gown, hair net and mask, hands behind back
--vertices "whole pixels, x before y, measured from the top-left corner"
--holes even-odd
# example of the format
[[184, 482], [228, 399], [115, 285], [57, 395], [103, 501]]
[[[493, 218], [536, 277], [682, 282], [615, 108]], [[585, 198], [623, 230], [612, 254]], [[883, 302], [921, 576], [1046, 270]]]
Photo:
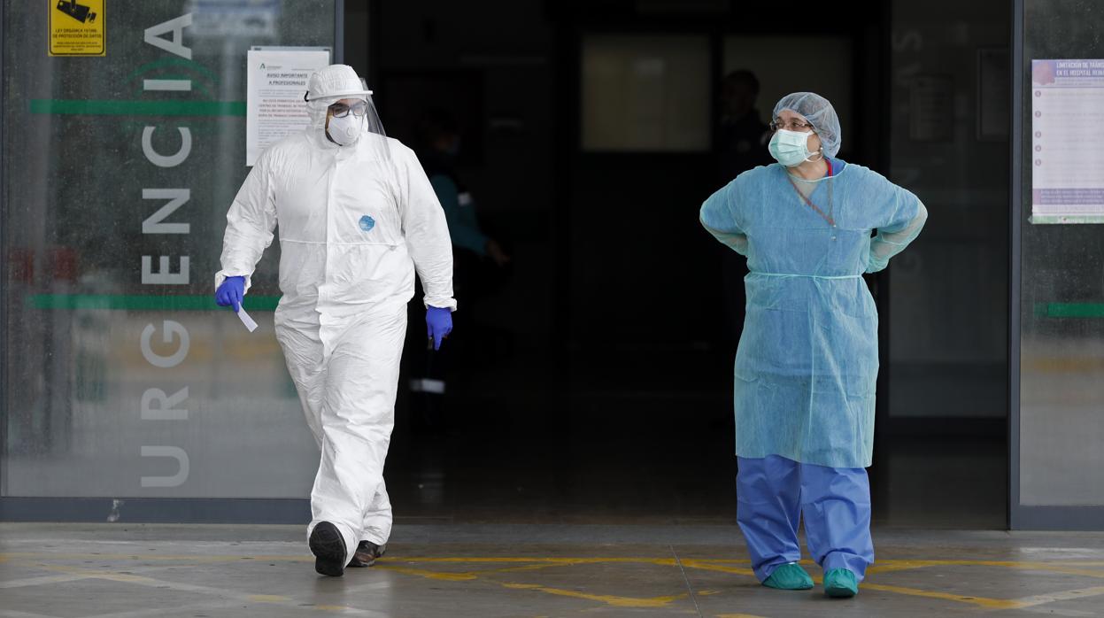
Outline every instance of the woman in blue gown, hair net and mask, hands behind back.
[[[701, 206], [701, 223], [747, 257], [734, 403], [737, 520], [763, 585], [808, 589], [804, 515], [825, 593], [858, 594], [873, 563], [870, 483], [878, 310], [862, 279], [919, 234], [912, 193], [836, 159], [840, 126], [813, 93], [774, 108], [777, 163], [746, 171]], [[877, 232], [877, 234], [874, 233]]]

